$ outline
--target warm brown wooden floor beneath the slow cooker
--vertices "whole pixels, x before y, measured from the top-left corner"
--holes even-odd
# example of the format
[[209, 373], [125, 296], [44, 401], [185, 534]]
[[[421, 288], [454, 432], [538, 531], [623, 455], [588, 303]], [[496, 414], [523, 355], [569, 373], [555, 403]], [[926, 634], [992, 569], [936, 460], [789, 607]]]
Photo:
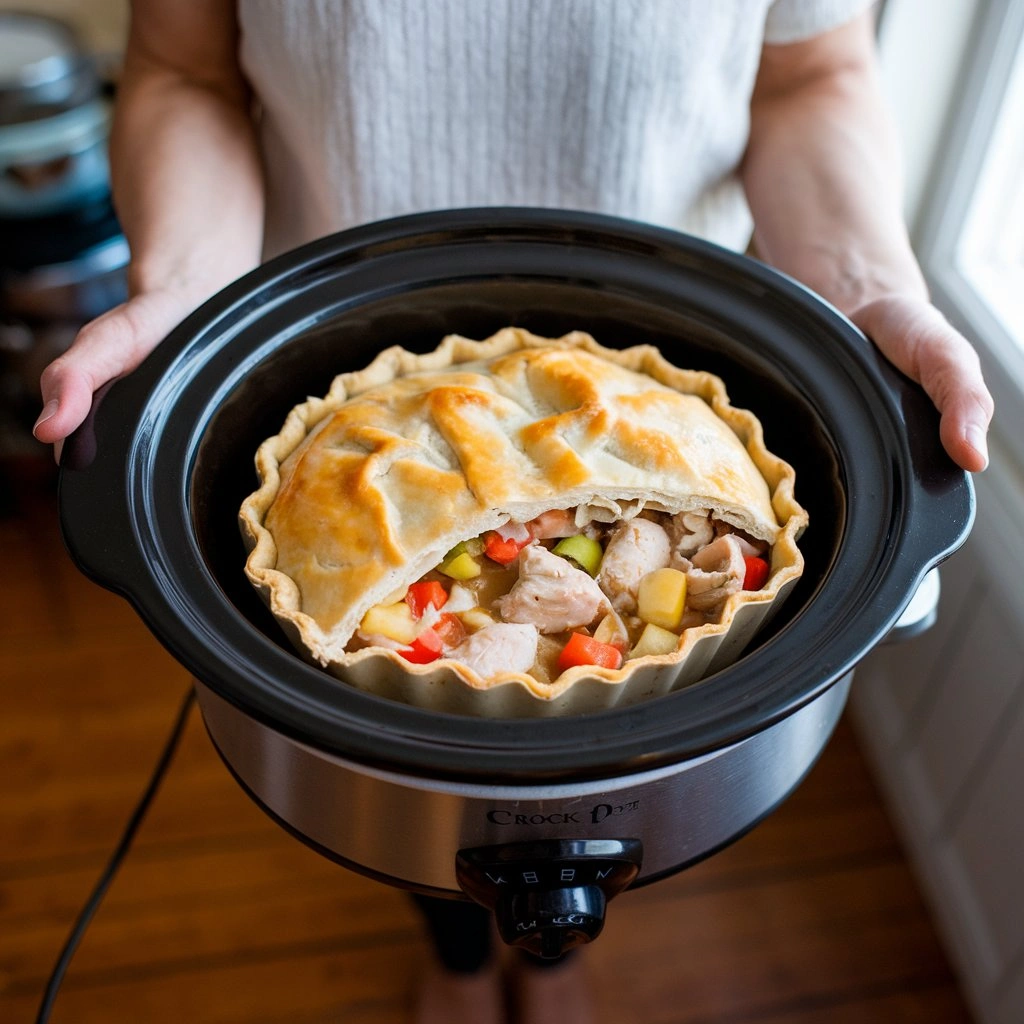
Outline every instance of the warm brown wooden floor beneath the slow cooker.
[[[0, 1021], [35, 1019], [188, 680], [60, 546], [52, 479], [0, 517]], [[427, 947], [408, 899], [272, 824], [194, 713], [68, 975], [75, 1024], [399, 1024]], [[627, 893], [587, 950], [601, 1024], [967, 1024], [842, 723], [771, 818]]]

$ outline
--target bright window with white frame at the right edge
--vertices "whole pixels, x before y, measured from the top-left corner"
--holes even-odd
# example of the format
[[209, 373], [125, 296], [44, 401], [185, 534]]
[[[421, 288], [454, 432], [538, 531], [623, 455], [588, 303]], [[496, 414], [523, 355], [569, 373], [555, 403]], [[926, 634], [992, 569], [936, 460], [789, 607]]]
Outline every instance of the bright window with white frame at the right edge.
[[[1024, 75], [1014, 76], [1024, 46], [1024, 3], [989, 0], [979, 4], [966, 48], [955, 102], [949, 112], [930, 187], [923, 197], [914, 248], [935, 304], [978, 349], [985, 380], [995, 399], [994, 432], [1024, 465], [1024, 348], [1018, 340], [1024, 324], [1011, 331], [1007, 310], [1013, 302], [1024, 309], [1024, 297], [1007, 291], [1007, 279], [994, 288], [972, 272], [972, 238], [985, 212], [978, 199], [1007, 199], [1007, 181], [991, 179], [989, 153], [1008, 88], [1024, 95]], [[1017, 112], [1024, 119], [1024, 110]], [[1017, 132], [1024, 138], [1024, 131]], [[987, 163], [986, 163], [987, 162]], [[987, 177], [986, 177], [987, 175]], [[1017, 189], [1024, 190], [1024, 164]], [[1016, 203], [1020, 210], [1020, 202]], [[990, 222], [990, 218], [989, 218]], [[1024, 282], [1022, 282], [1024, 285]]]

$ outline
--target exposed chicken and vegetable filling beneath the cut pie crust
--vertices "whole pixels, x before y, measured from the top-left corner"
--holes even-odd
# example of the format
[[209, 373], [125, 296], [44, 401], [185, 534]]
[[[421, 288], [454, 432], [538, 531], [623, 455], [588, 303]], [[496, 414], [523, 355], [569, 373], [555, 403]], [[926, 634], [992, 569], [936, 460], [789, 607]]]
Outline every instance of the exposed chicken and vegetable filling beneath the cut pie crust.
[[717, 622], [732, 594], [760, 590], [770, 563], [766, 542], [711, 512], [644, 509], [598, 522], [555, 509], [456, 545], [371, 607], [347, 649], [549, 683], [574, 666], [674, 653], [682, 632]]

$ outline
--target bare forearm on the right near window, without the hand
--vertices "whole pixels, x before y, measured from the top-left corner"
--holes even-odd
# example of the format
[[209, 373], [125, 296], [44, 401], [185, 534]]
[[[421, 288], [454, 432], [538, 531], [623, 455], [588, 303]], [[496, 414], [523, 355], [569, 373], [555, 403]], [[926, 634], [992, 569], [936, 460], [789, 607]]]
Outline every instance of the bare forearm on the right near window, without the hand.
[[760, 88], [742, 166], [759, 255], [848, 313], [886, 295], [927, 296], [868, 46], [829, 73]]

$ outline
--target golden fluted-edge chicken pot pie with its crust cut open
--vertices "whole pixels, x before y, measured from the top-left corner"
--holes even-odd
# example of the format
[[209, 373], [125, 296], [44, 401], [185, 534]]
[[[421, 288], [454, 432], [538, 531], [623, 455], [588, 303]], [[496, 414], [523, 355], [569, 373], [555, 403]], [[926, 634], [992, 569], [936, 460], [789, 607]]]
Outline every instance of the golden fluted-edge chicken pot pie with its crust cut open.
[[803, 569], [790, 465], [712, 374], [508, 328], [383, 351], [256, 455], [246, 573], [307, 659], [435, 710], [630, 703], [729, 664]]

